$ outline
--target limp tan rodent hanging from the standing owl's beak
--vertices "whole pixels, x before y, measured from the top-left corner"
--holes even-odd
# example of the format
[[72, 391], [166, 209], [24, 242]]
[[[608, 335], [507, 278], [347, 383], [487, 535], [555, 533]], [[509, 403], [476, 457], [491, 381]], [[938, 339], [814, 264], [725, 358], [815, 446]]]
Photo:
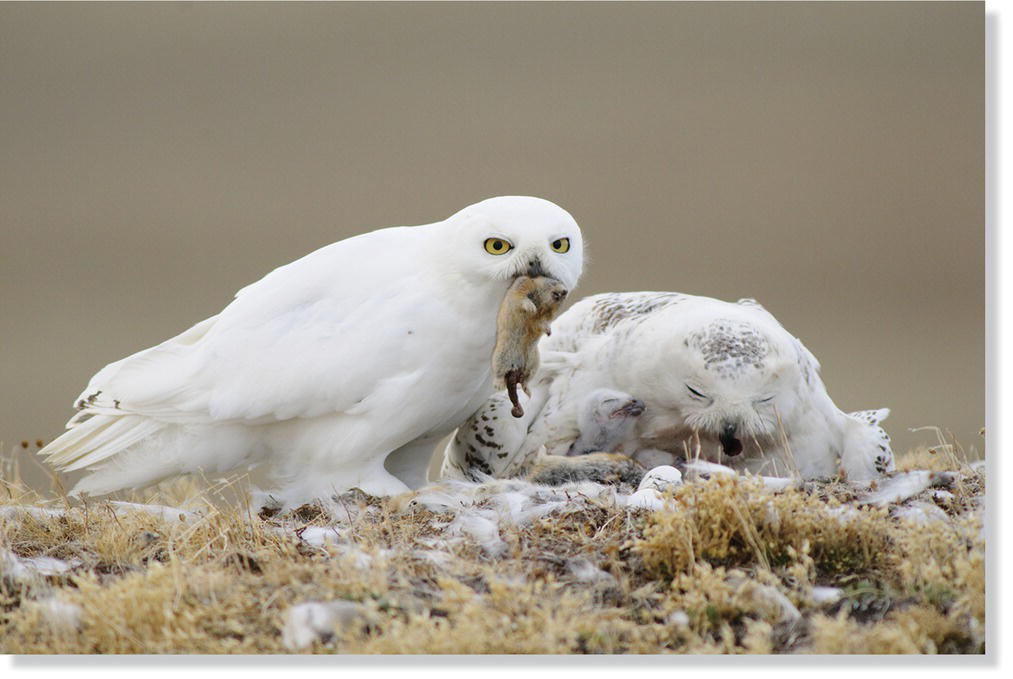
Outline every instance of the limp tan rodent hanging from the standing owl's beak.
[[506, 389], [515, 418], [524, 416], [517, 387], [521, 385], [531, 395], [528, 380], [538, 371], [538, 340], [549, 334], [549, 323], [559, 313], [566, 293], [563, 284], [555, 279], [519, 276], [499, 305], [492, 377], [496, 389]]

